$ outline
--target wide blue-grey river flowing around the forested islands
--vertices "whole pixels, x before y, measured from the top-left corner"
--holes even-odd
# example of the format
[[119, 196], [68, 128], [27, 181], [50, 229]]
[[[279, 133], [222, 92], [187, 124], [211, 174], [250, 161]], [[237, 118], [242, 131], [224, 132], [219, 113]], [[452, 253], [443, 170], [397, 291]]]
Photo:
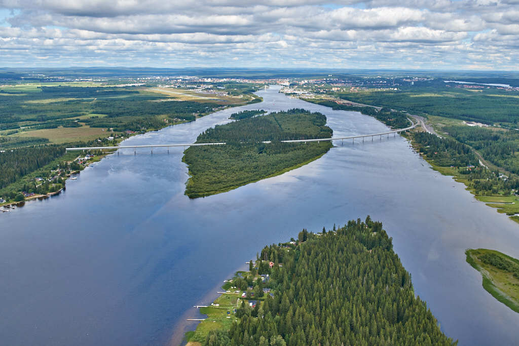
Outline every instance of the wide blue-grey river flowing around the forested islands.
[[[190, 143], [244, 109], [325, 114], [334, 136], [386, 131], [372, 117], [290, 99], [231, 108], [127, 145]], [[462, 345], [518, 344], [519, 314], [482, 287], [466, 248], [519, 258], [519, 225], [442, 176], [402, 137], [335, 143], [319, 160], [207, 198], [184, 196], [182, 148], [120, 150], [66, 192], [0, 213], [0, 338], [5, 345], [163, 345], [195, 324], [195, 304], [265, 244], [370, 214], [393, 238], [442, 330]], [[180, 337], [181, 339], [181, 337]]]

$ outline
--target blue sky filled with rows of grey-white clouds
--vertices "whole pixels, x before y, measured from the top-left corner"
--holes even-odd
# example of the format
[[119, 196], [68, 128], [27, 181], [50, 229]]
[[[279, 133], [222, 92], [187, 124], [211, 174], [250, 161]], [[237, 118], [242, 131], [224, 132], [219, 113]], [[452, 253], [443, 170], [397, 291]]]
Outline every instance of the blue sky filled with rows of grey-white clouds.
[[0, 0], [0, 67], [68, 66], [515, 71], [519, 0]]

